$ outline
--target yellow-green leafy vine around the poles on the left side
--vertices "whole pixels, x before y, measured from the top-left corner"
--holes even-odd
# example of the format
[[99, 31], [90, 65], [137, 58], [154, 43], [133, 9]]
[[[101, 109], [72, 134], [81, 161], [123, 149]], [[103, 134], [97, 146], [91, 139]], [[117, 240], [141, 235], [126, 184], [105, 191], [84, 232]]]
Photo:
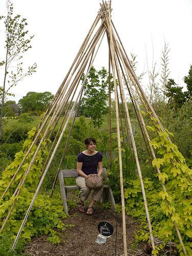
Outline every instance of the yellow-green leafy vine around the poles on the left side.
[[[14, 161], [7, 166], [2, 174], [2, 180], [0, 180], [0, 195], [3, 194], [5, 188], [8, 186], [10, 180], [16, 172], [20, 162], [23, 160], [25, 155], [24, 152], [28, 150], [32, 143], [32, 136], [35, 133], [36, 128], [32, 129], [28, 133], [28, 139], [24, 142], [22, 151], [16, 153]], [[35, 161], [31, 167], [31, 170], [26, 177], [25, 184], [21, 188], [21, 192], [18, 197], [12, 196], [24, 173], [29, 167], [30, 161], [36, 150], [36, 145], [33, 146], [31, 154], [26, 158], [24, 164], [20, 168], [16, 179], [7, 191], [6, 196], [0, 201], [0, 219], [2, 222], [7, 216], [8, 210], [11, 204], [15, 201], [16, 205], [8, 220], [8, 223], [1, 233], [0, 244], [4, 241], [4, 236], [8, 236], [11, 240], [15, 238], [15, 234], [18, 232], [20, 224], [22, 223], [25, 213], [30, 205], [31, 199], [34, 195], [35, 189], [41, 176], [42, 166], [44, 158], [47, 156], [47, 146], [50, 141], [46, 140], [43, 142], [43, 146], [40, 148]], [[58, 243], [59, 238], [54, 231], [54, 228], [65, 228], [65, 224], [62, 223], [61, 218], [65, 218], [66, 214], [63, 212], [61, 201], [58, 200], [60, 195], [55, 194], [55, 198], [49, 198], [46, 194], [39, 194], [36, 198], [32, 210], [30, 212], [28, 221], [23, 229], [20, 236], [24, 241], [29, 241], [31, 237], [37, 236], [38, 234], [49, 234], [49, 238], [52, 242]], [[13, 242], [13, 241], [12, 241]], [[9, 249], [9, 248], [8, 248]]]

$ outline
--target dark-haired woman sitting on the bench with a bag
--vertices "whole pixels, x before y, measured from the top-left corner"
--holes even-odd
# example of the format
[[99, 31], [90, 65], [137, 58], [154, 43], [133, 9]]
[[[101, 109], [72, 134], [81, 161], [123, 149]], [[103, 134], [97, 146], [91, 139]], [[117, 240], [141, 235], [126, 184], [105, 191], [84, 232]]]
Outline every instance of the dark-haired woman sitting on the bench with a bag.
[[[77, 156], [77, 173], [78, 177], [76, 179], [77, 186], [80, 187], [79, 193], [79, 207], [78, 210], [80, 212], [84, 212], [84, 201], [88, 199], [91, 188], [86, 186], [85, 179], [90, 174], [97, 174], [98, 167], [98, 175], [102, 174], [102, 155], [100, 152], [96, 151], [96, 140], [94, 138], [87, 138], [84, 141], [86, 144], [87, 150], [81, 152]], [[102, 178], [101, 178], [102, 179]], [[100, 200], [102, 194], [102, 188], [94, 189], [92, 200], [89, 204], [88, 210], [86, 212], [87, 215], [93, 214], [93, 205], [96, 201]]]

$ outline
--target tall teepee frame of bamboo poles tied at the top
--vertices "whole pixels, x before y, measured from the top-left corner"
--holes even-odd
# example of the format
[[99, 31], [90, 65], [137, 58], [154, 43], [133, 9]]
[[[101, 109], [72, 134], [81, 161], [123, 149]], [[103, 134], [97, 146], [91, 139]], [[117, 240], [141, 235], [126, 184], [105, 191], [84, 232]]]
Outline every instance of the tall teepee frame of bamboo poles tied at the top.
[[[19, 196], [20, 191], [22, 190], [22, 187], [25, 183], [25, 180], [31, 170], [31, 167], [34, 163], [35, 157], [37, 156], [37, 153], [39, 152], [40, 147], [42, 146], [42, 143], [45, 141], [45, 139], [50, 138], [51, 135], [53, 134], [55, 127], [59, 121], [59, 119], [62, 118], [62, 121], [59, 125], [58, 132], [55, 136], [55, 139], [52, 143], [50, 152], [47, 156], [47, 159], [44, 163], [44, 168], [42, 169], [42, 175], [39, 180], [36, 192], [34, 194], [34, 197], [31, 201], [31, 204], [28, 208], [28, 211], [26, 213], [26, 216], [23, 220], [22, 225], [20, 226], [20, 229], [17, 233], [17, 237], [14, 241], [12, 249], [15, 248], [15, 245], [18, 241], [18, 238], [20, 236], [20, 233], [22, 232], [22, 229], [27, 221], [27, 218], [29, 216], [30, 210], [33, 206], [33, 203], [35, 201], [35, 198], [38, 194], [38, 191], [41, 187], [41, 184], [48, 172], [48, 169], [50, 167], [50, 164], [55, 156], [55, 153], [57, 151], [57, 148], [59, 146], [59, 143], [61, 141], [61, 138], [63, 134], [66, 131], [67, 126], [69, 125], [69, 120], [70, 117], [72, 116], [72, 112], [75, 110], [75, 113], [77, 114], [78, 106], [80, 104], [81, 96], [83, 93], [83, 88], [84, 84], [86, 82], [86, 79], [89, 75], [89, 71], [93, 65], [94, 59], [96, 57], [97, 51], [101, 45], [102, 39], [104, 35], [106, 35], [108, 39], [108, 44], [109, 44], [109, 123], [110, 123], [110, 159], [112, 159], [112, 154], [111, 154], [111, 69], [113, 73], [113, 82], [114, 82], [114, 91], [115, 91], [115, 106], [116, 106], [116, 119], [117, 119], [117, 137], [118, 137], [118, 152], [119, 152], [119, 169], [120, 169], [120, 186], [121, 186], [121, 199], [122, 199], [122, 220], [123, 220], [123, 245], [124, 245], [124, 255], [127, 255], [127, 248], [126, 248], [126, 228], [125, 228], [125, 205], [124, 205], [124, 193], [123, 193], [123, 176], [122, 176], [122, 158], [121, 158], [121, 140], [120, 140], [120, 126], [119, 126], [119, 121], [121, 121], [121, 115], [119, 111], [119, 100], [121, 100], [123, 104], [123, 110], [124, 110], [124, 116], [125, 116], [125, 126], [126, 126], [126, 135], [129, 138], [130, 141], [130, 147], [131, 147], [131, 141], [132, 141], [132, 147], [131, 147], [131, 152], [133, 150], [134, 156], [135, 156], [135, 161], [137, 164], [137, 170], [139, 174], [139, 179], [141, 183], [141, 188], [142, 188], [142, 195], [143, 195], [143, 200], [144, 200], [144, 206], [145, 206], [145, 211], [146, 211], [146, 218], [148, 222], [148, 229], [150, 231], [150, 237], [151, 237], [151, 243], [153, 249], [155, 249], [155, 244], [154, 244], [154, 238], [153, 238], [153, 233], [152, 233], [152, 227], [151, 227], [151, 221], [150, 221], [150, 215], [148, 212], [147, 208], [147, 201], [146, 201], [146, 196], [145, 196], [145, 189], [142, 181], [142, 174], [141, 174], [141, 169], [140, 169], [140, 164], [137, 156], [137, 149], [135, 145], [135, 140], [133, 136], [133, 131], [132, 131], [132, 125], [131, 125], [131, 120], [130, 120], [130, 115], [129, 115], [129, 109], [127, 108], [126, 104], [126, 96], [125, 96], [125, 89], [123, 88], [123, 84], [125, 83], [126, 85], [126, 90], [129, 92], [132, 103], [134, 105], [134, 109], [137, 115], [137, 119], [139, 121], [141, 131], [143, 134], [143, 138], [145, 141], [145, 145], [148, 151], [148, 154], [152, 155], [152, 158], [155, 159], [155, 153], [153, 150], [153, 147], [150, 145], [150, 136], [148, 135], [148, 132], [146, 130], [145, 122], [142, 116], [142, 112], [140, 110], [139, 104], [137, 102], [137, 97], [139, 96], [140, 101], [143, 103], [147, 111], [150, 111], [150, 115], [155, 118], [158, 122], [159, 125], [159, 130], [164, 131], [164, 128], [157, 117], [155, 111], [152, 108], [152, 105], [148, 101], [145, 93], [143, 92], [143, 89], [140, 85], [139, 80], [137, 79], [135, 72], [132, 68], [131, 62], [129, 58], [127, 57], [127, 54], [125, 52], [125, 49], [123, 47], [123, 44], [121, 42], [121, 39], [117, 33], [117, 30], [115, 28], [115, 25], [112, 21], [111, 18], [111, 1], [106, 3], [103, 2], [100, 5], [100, 10], [86, 36], [84, 39], [73, 63], [72, 66], [67, 73], [65, 79], [61, 83], [53, 101], [51, 102], [49, 109], [45, 113], [45, 115], [41, 118], [41, 121], [37, 127], [36, 134], [34, 136], [34, 140], [29, 148], [29, 150], [26, 152], [26, 155], [24, 156], [22, 162], [20, 163], [19, 167], [17, 168], [14, 176], [12, 177], [11, 182], [9, 183], [8, 187], [5, 189], [4, 194], [2, 195], [2, 198], [4, 198], [10, 188], [10, 186], [14, 183], [14, 180], [19, 172], [19, 169], [22, 167], [24, 164], [25, 159], [28, 157], [28, 155], [31, 153], [31, 150], [34, 145], [37, 145], [36, 151], [33, 153], [32, 160], [30, 162], [29, 167], [26, 169], [24, 175], [20, 177], [20, 181], [18, 186], [15, 189], [15, 192], [13, 194], [13, 203], [10, 207], [10, 210], [7, 214], [7, 218], [5, 219], [1, 230], [4, 229], [4, 227], [7, 224], [7, 221], [11, 215], [11, 212], [16, 204], [16, 197]], [[100, 22], [100, 23], [99, 23]], [[81, 84], [81, 76], [83, 73], [86, 73], [86, 76], [84, 78], [84, 82]], [[123, 76], [123, 78], [122, 78]], [[118, 80], [118, 84], [116, 83], [116, 79]], [[137, 97], [136, 97], [137, 93]], [[72, 101], [74, 101], [73, 106], [71, 107]], [[70, 115], [67, 118], [67, 113], [70, 111]], [[65, 115], [61, 117], [61, 113], [65, 111]], [[75, 117], [76, 117], [75, 114]], [[71, 129], [69, 132], [69, 136], [67, 139], [67, 143], [65, 146], [65, 149], [63, 151], [60, 164], [58, 167], [57, 175], [55, 177], [55, 181], [53, 184], [52, 191], [54, 189], [54, 186], [56, 184], [57, 178], [58, 178], [58, 172], [60, 169], [60, 166], [62, 164], [63, 157], [65, 156], [66, 150], [67, 150], [67, 144], [69, 142], [69, 138], [71, 135], [71, 131], [73, 129], [73, 124], [75, 121], [75, 117], [73, 120], [73, 123], [71, 125]], [[120, 118], [120, 120], [119, 120]], [[66, 120], [67, 119], [67, 120]], [[121, 125], [122, 127], [122, 125]], [[131, 138], [130, 138], [131, 135]], [[157, 168], [157, 172], [160, 174], [159, 168]], [[163, 191], [166, 191], [165, 186], [162, 184]], [[168, 203], [168, 202], [167, 202]], [[179, 229], [177, 227], [177, 223], [174, 222], [175, 228], [177, 230], [177, 234], [179, 237], [179, 241], [182, 245], [183, 252], [186, 254]]]

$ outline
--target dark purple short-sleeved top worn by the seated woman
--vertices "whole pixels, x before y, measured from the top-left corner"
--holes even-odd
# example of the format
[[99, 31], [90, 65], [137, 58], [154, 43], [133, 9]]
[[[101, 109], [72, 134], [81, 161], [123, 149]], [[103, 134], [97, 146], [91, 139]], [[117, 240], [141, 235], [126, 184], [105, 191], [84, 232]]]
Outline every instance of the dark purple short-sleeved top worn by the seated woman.
[[87, 156], [82, 152], [77, 156], [77, 162], [82, 163], [82, 172], [86, 175], [97, 174], [98, 162], [102, 162], [103, 156], [97, 152], [93, 156]]

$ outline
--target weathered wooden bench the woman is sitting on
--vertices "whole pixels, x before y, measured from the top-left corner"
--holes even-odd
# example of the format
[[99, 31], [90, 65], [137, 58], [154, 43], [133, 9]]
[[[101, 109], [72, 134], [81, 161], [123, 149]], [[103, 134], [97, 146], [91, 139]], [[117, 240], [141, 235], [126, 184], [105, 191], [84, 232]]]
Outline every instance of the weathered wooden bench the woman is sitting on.
[[[60, 191], [61, 191], [61, 199], [63, 202], [63, 207], [65, 209], [66, 214], [68, 214], [68, 205], [67, 205], [67, 190], [68, 189], [79, 189], [77, 185], [70, 185], [66, 186], [65, 185], [65, 178], [74, 178], [77, 177], [77, 170], [60, 170], [59, 172], [59, 184], [60, 184]], [[106, 169], [103, 168], [103, 173], [102, 176], [104, 180], [108, 180], [108, 177], [106, 176]], [[116, 210], [116, 205], [115, 205], [115, 200], [113, 197], [113, 192], [112, 189], [109, 185], [103, 185], [103, 193], [101, 197], [101, 202], [105, 201], [105, 198], [108, 198], [108, 200], [111, 202], [111, 208], [113, 210]]]

